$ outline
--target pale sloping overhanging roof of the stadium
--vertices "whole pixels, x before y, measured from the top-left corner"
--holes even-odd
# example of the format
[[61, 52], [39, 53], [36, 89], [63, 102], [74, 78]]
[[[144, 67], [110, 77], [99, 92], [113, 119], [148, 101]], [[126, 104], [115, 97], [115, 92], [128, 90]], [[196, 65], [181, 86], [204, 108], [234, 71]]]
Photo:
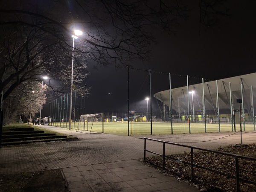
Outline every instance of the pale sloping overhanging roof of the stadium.
[[[217, 84], [218, 84], [218, 94], [217, 94]], [[243, 90], [242, 92], [241, 92], [241, 85]], [[252, 97], [251, 86], [253, 87], [253, 97]], [[195, 93], [188, 94], [188, 91], [189, 92], [195, 91]], [[215, 113], [217, 113], [217, 107], [219, 106], [220, 110], [230, 111], [230, 95], [231, 95], [232, 110], [239, 110], [240, 105], [239, 103], [237, 103], [236, 99], [243, 99], [242, 104], [244, 106], [244, 111], [252, 112], [252, 106], [256, 106], [256, 98], [255, 98], [256, 97], [256, 73], [231, 77], [227, 79], [220, 79], [217, 81], [204, 82], [204, 86], [201, 83], [201, 84], [189, 85], [188, 87], [187, 86], [179, 87], [179, 88], [172, 89], [171, 93], [172, 93], [172, 109], [175, 111], [187, 111], [188, 103], [190, 105], [189, 108], [192, 109], [192, 102], [193, 102], [195, 111], [198, 111], [198, 114], [200, 112], [202, 114], [203, 95], [204, 95], [206, 110], [214, 110]], [[154, 97], [157, 100], [163, 102], [164, 105], [167, 105], [167, 106], [170, 105], [169, 104], [170, 90], [163, 90], [158, 93], [155, 93]], [[254, 105], [252, 105], [252, 98], [253, 98]]]

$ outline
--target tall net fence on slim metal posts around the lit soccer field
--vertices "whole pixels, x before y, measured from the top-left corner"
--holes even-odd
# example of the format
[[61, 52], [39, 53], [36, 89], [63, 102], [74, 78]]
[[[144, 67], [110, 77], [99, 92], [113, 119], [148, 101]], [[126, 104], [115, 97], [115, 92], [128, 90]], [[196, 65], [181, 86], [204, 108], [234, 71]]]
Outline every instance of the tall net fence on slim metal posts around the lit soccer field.
[[[128, 68], [127, 73], [123, 78], [128, 84], [118, 89], [127, 92], [128, 110], [97, 111], [103, 113], [104, 133], [137, 136], [255, 131], [256, 90], [243, 79], [236, 83], [209, 81], [134, 68]], [[73, 129], [81, 115], [90, 113], [86, 99], [73, 93]], [[104, 105], [106, 101], [97, 102]], [[108, 102], [115, 105], [115, 101]], [[69, 94], [50, 102], [50, 124], [68, 128], [69, 111]]]

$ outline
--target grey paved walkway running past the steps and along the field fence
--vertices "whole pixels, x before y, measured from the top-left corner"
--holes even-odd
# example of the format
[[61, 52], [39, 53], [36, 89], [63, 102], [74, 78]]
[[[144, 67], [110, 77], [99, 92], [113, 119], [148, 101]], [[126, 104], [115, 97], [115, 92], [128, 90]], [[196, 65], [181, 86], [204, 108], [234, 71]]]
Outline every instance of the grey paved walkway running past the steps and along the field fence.
[[[38, 125], [69, 134], [79, 140], [34, 143], [0, 148], [0, 174], [62, 169], [71, 192], [198, 192], [193, 186], [156, 169], [142, 165], [143, 137], [122, 137], [111, 134], [84, 134], [76, 130]], [[217, 148], [241, 143], [240, 133], [182, 134], [146, 136], [204, 148]], [[256, 132], [243, 133], [243, 143], [254, 143]], [[162, 152], [162, 144], [147, 142], [147, 149]], [[166, 146], [166, 154], [189, 149]], [[147, 154], [151, 156], [152, 154]]]

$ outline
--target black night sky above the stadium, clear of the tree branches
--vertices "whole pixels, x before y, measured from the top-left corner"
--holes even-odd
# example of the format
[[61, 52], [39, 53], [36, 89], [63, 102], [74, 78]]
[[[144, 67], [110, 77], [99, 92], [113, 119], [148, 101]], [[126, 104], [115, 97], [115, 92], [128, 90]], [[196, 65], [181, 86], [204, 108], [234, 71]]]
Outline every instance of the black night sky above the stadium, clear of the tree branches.
[[[195, 5], [198, 3], [196, 0], [191, 2]], [[186, 76], [210, 81], [255, 73], [256, 1], [228, 2], [230, 16], [220, 17], [215, 26], [201, 26], [198, 22], [198, 10], [194, 7], [191, 17], [180, 21], [180, 26], [174, 29], [175, 34], [168, 35], [154, 29], [157, 44], [152, 44], [150, 62], [134, 61], [132, 67], [182, 76], [182, 81], [174, 78], [173, 88], [185, 86]], [[127, 68], [115, 69], [114, 66], [108, 66], [96, 70], [88, 64], [88, 70], [90, 76], [86, 79], [86, 84], [92, 90], [86, 98], [86, 111], [127, 112]], [[130, 73], [131, 98], [144, 100], [149, 96], [146, 73]], [[154, 78], [152, 81], [152, 96], [169, 88], [169, 82], [163, 83], [161, 78]], [[47, 110], [45, 106], [43, 113]]]

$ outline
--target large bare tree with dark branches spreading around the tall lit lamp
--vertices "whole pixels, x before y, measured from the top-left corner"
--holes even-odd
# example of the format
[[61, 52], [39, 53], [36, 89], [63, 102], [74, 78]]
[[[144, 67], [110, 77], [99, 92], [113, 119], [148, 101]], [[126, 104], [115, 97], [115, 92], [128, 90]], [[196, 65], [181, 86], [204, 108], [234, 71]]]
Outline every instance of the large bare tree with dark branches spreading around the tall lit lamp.
[[[204, 3], [200, 9], [205, 5], [216, 7]], [[61, 82], [58, 87], [50, 84], [52, 90], [68, 92], [73, 58], [75, 87], [86, 94], [88, 63], [122, 67], [136, 59], [148, 61], [154, 31], [172, 32], [178, 20], [188, 16], [186, 6], [176, 0], [9, 0], [1, 1], [0, 7], [3, 100], [19, 84], [40, 81], [46, 74]], [[71, 35], [77, 28], [84, 35], [75, 42], [73, 57]]]

